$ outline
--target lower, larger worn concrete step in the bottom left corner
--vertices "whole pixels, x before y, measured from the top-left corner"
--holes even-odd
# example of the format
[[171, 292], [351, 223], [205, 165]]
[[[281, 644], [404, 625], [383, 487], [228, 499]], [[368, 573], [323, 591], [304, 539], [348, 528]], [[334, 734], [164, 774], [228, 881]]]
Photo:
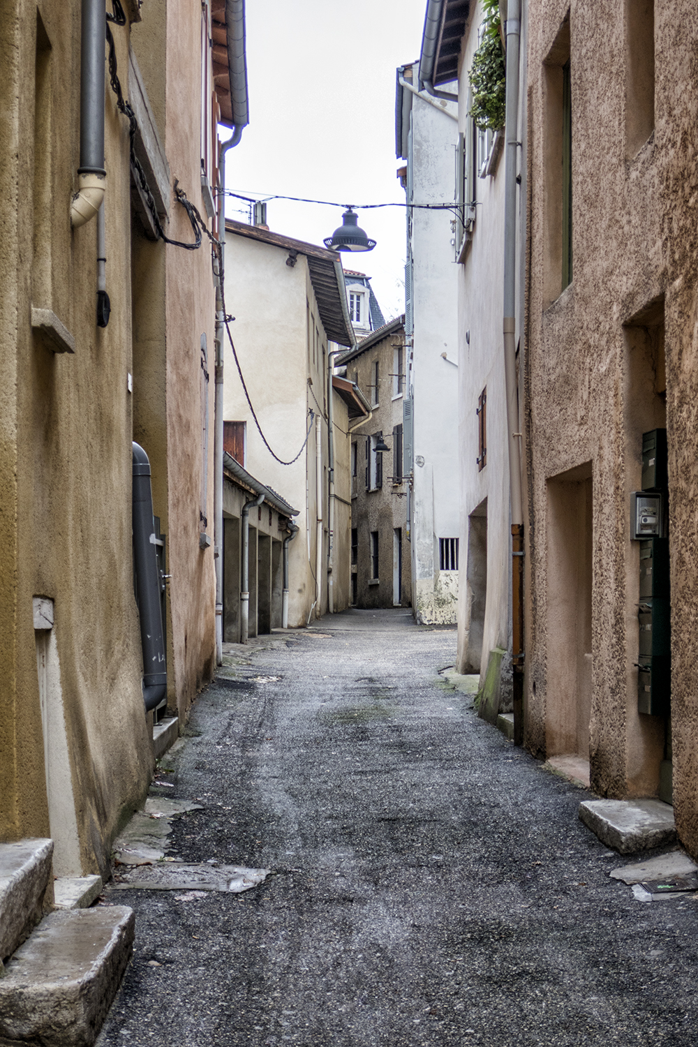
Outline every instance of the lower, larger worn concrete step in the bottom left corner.
[[0, 1043], [91, 1047], [133, 953], [125, 906], [44, 917], [0, 979]]

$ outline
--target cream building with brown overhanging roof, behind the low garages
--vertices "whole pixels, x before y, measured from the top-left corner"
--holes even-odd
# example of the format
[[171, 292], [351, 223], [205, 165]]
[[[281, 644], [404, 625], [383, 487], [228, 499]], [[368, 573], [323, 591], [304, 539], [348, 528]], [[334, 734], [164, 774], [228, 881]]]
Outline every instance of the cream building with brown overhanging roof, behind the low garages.
[[[341, 261], [324, 247], [228, 220], [225, 287], [238, 361], [268, 446], [227, 339], [224, 443], [245, 470], [299, 510], [289, 544], [288, 624], [302, 626], [329, 609], [342, 610], [350, 599], [348, 419], [368, 408], [343, 387], [350, 383], [332, 380], [331, 354], [355, 344]], [[264, 511], [250, 510], [250, 533]], [[250, 577], [255, 540], [252, 535]], [[226, 640], [235, 639], [233, 618], [224, 622]]]

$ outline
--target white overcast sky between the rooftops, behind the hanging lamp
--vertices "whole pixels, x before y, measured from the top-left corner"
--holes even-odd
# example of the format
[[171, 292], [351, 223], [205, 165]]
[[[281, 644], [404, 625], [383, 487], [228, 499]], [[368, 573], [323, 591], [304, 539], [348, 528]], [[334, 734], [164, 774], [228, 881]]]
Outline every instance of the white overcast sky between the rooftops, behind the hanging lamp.
[[[419, 58], [425, 10], [426, 0], [248, 0], [250, 124], [227, 154], [227, 187], [339, 204], [404, 202], [396, 68]], [[245, 206], [227, 197], [227, 217], [246, 221], [235, 209]], [[267, 222], [321, 245], [341, 211], [270, 200]], [[387, 320], [405, 308], [405, 208], [359, 211], [359, 225], [377, 247], [343, 252], [344, 268], [371, 277]]]

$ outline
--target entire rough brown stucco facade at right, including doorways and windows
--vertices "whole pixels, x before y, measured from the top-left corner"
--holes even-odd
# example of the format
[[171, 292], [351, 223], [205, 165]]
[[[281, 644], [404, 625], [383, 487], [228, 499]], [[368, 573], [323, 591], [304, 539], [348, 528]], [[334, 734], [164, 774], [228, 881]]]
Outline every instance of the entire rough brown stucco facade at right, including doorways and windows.
[[[602, 796], [671, 800], [673, 778], [696, 853], [694, 15], [531, 0], [523, 377], [526, 744], [588, 761]], [[655, 430], [663, 481], [647, 472]], [[648, 490], [668, 505], [667, 537], [643, 544], [632, 493]], [[647, 632], [645, 654], [663, 659], [649, 668]]]

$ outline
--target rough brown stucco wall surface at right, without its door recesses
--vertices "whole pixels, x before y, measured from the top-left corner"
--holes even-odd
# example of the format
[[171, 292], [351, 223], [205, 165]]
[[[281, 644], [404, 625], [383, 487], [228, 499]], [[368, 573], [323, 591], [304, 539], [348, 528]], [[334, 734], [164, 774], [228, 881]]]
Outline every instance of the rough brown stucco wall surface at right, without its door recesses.
[[[558, 271], [557, 67], [567, 3], [531, 0], [528, 392], [531, 584], [526, 744], [546, 751], [559, 713], [550, 562], [556, 519], [549, 482], [591, 463], [592, 787], [601, 795], [655, 795], [667, 742], [661, 717], [637, 712], [638, 552], [629, 535], [629, 495], [639, 486], [641, 433], [663, 424], [658, 357], [648, 350], [663, 320], [669, 433], [672, 574], [674, 802], [683, 842], [698, 851], [696, 785], [695, 569], [696, 113], [697, 30], [688, 2], [654, 5], [654, 131], [636, 125], [626, 5], [572, 2], [573, 281]], [[630, 20], [637, 13], [630, 13]], [[679, 29], [680, 27], [680, 29]], [[560, 41], [563, 41], [562, 50]], [[556, 49], [556, 41], [558, 47]], [[548, 63], [546, 65], [546, 62]], [[551, 64], [550, 64], [551, 63]], [[625, 326], [624, 326], [625, 325]]]

